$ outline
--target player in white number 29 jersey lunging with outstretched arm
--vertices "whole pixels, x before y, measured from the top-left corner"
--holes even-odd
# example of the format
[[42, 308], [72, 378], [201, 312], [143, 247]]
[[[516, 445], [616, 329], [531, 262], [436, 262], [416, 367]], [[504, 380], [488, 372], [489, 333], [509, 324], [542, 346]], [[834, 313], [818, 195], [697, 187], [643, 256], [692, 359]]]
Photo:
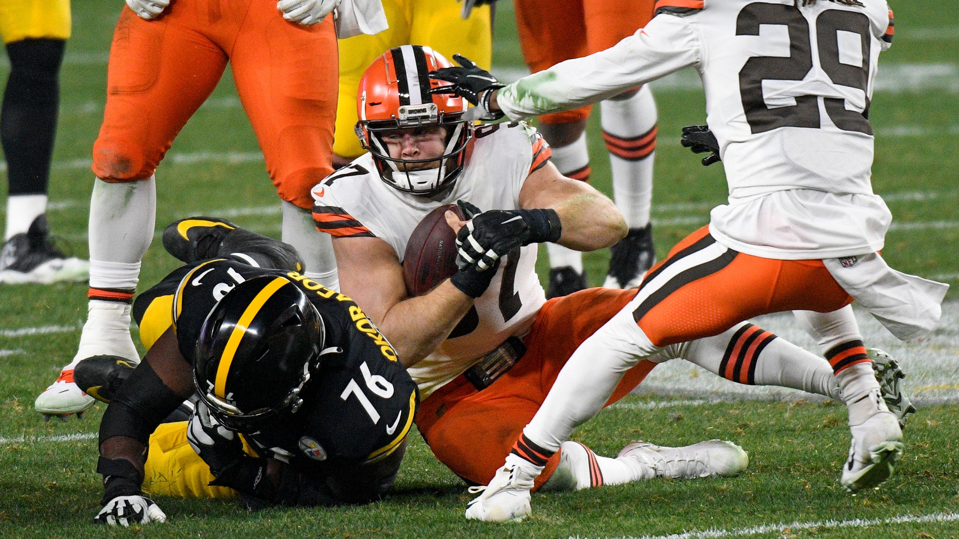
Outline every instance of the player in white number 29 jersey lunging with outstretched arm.
[[[783, 32], [760, 33], [762, 26]], [[857, 38], [845, 39], [850, 34]], [[673, 343], [763, 313], [830, 312], [854, 299], [901, 339], [936, 325], [947, 285], [897, 272], [877, 254], [891, 217], [872, 191], [866, 113], [878, 54], [892, 34], [884, 0], [660, 0], [653, 20], [615, 47], [505, 87], [472, 66], [432, 75], [456, 82], [434, 91], [479, 103], [476, 116], [518, 120], [694, 66], [730, 184], [730, 204], [654, 266], [637, 296], [573, 354], [516, 442], [539, 449], [507, 457], [467, 517], [525, 517], [543, 461], [599, 411], [622, 372]], [[488, 261], [511, 247], [492, 244], [484, 231], [465, 238], [467, 256], [493, 249]], [[834, 365], [853, 434], [841, 482], [857, 490], [893, 473], [902, 434], [878, 397], [869, 358], [846, 352]]]

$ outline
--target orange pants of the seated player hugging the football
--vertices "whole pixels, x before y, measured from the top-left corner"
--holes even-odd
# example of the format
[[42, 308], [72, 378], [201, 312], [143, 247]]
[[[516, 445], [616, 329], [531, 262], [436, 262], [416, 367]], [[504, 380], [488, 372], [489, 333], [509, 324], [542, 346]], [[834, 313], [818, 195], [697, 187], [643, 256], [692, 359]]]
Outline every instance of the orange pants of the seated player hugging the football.
[[[416, 426], [433, 455], [467, 483], [489, 483], [573, 351], [635, 295], [588, 288], [545, 303], [524, 339], [526, 354], [512, 369], [481, 392], [457, 376], [420, 404]], [[655, 366], [642, 361], [627, 371], [606, 404], [631, 392]], [[547, 463], [537, 487], [550, 479], [559, 456]]]

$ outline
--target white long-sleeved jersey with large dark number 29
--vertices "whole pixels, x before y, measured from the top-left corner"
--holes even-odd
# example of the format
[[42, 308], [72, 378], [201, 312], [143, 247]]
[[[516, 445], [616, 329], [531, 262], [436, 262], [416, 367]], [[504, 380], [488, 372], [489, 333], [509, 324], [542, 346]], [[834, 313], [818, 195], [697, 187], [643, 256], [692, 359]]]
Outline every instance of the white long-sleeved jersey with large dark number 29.
[[729, 182], [713, 236], [770, 258], [870, 253], [891, 220], [872, 191], [868, 115], [893, 19], [885, 0], [850, 3], [660, 0], [636, 34], [506, 86], [497, 101], [523, 118], [694, 66]]

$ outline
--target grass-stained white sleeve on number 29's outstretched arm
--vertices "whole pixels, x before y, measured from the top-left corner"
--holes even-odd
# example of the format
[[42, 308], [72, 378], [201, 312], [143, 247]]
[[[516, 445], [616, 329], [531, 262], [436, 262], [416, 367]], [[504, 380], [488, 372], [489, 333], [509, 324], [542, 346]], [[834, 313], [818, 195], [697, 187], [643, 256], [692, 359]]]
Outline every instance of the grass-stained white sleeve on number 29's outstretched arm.
[[661, 14], [613, 47], [560, 62], [497, 93], [511, 120], [603, 101], [699, 62], [699, 38], [689, 17]]

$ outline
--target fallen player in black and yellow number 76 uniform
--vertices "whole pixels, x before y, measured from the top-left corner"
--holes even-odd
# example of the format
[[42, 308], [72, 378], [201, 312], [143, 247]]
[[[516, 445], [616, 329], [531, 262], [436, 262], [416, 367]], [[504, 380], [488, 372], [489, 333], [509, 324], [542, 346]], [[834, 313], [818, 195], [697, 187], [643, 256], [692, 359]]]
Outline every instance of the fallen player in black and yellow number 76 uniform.
[[[100, 356], [78, 371], [99, 380], [79, 379], [84, 389], [110, 398], [95, 522], [165, 520], [144, 489], [280, 505], [385, 493], [418, 397], [363, 310], [292, 271], [292, 247], [222, 219], [177, 221], [164, 245], [187, 264], [134, 303], [144, 361], [124, 373], [120, 358]], [[129, 378], [110, 383], [118, 374]], [[160, 425], [194, 393], [189, 429]]]

